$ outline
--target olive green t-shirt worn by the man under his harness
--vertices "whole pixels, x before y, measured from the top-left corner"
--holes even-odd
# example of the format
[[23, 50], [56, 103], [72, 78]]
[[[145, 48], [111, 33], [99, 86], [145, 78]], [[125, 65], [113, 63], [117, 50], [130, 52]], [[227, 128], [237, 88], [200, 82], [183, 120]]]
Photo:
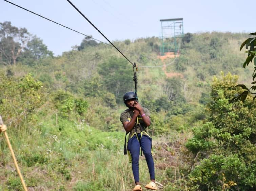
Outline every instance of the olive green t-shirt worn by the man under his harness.
[[[149, 110], [147, 108], [144, 108], [142, 107], [144, 113], [146, 114], [146, 116], [150, 117], [150, 113], [149, 113]], [[131, 119], [133, 118], [133, 110], [128, 108], [126, 110], [124, 110], [124, 112], [121, 113], [120, 115], [120, 121], [122, 122], [122, 124], [125, 122], [125, 121], [130, 121]], [[144, 127], [144, 129], [146, 128], [146, 125], [144, 123], [144, 121], [142, 120], [142, 117], [140, 116], [140, 114], [138, 115], [138, 121], [139, 121], [139, 124], [141, 126]], [[141, 133], [141, 130], [140, 128], [137, 128], [137, 133]], [[133, 128], [130, 132], [130, 136], [135, 132], [135, 128]], [[130, 137], [129, 137], [130, 138]]]

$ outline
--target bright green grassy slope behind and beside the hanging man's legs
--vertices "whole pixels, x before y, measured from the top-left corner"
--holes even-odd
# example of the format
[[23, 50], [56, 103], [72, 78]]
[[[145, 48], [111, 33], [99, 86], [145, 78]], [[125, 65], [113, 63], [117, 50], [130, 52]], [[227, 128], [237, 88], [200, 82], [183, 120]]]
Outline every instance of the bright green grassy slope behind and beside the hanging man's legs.
[[[19, 167], [27, 187], [34, 190], [129, 190], [134, 179], [127, 155], [123, 155], [124, 132], [102, 132], [87, 124], [54, 119], [20, 132], [10, 131]], [[61, 127], [61, 130], [59, 130]], [[178, 133], [153, 137], [156, 180], [168, 183], [166, 169], [172, 166], [162, 144], [184, 141]], [[4, 139], [1, 143], [1, 190], [22, 190]], [[160, 146], [159, 146], [160, 145]], [[168, 146], [169, 147], [169, 146]], [[168, 149], [171, 149], [168, 148]], [[168, 151], [169, 152], [169, 151]], [[175, 156], [177, 151], [173, 152]], [[170, 152], [171, 153], [171, 150]], [[140, 181], [149, 181], [144, 156], [140, 157]], [[159, 189], [161, 190], [161, 189]], [[162, 189], [163, 190], [163, 189]]]

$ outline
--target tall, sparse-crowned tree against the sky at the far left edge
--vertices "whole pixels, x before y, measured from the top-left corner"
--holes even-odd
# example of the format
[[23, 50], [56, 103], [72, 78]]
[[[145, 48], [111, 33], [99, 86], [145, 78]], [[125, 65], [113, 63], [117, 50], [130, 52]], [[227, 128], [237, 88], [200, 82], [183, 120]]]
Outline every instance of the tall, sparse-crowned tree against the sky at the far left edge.
[[0, 63], [15, 65], [30, 38], [26, 28], [14, 27], [9, 21], [0, 23]]

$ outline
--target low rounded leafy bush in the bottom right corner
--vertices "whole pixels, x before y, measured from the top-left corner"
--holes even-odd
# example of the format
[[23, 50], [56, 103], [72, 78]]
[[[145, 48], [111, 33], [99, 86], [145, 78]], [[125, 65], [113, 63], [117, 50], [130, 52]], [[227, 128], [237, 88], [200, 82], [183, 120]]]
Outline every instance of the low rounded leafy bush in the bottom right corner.
[[255, 164], [246, 164], [238, 155], [210, 155], [189, 175], [189, 186], [198, 190], [253, 190]]

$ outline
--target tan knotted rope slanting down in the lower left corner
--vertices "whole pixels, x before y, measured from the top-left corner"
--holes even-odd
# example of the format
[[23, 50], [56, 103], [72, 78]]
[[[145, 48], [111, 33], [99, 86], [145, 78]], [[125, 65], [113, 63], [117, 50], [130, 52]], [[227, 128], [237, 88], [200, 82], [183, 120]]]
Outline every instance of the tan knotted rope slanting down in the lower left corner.
[[24, 180], [23, 180], [23, 178], [22, 178], [22, 175], [21, 175], [21, 172], [20, 172], [20, 169], [19, 169], [17, 160], [16, 160], [15, 155], [14, 155], [14, 152], [13, 152], [12, 145], [11, 145], [11, 143], [10, 143], [9, 137], [8, 137], [8, 135], [7, 135], [7, 132], [6, 132], [6, 125], [3, 124], [1, 115], [0, 115], [0, 129], [1, 129], [1, 131], [4, 133], [6, 142], [7, 142], [7, 144], [8, 144], [8, 147], [9, 147], [10, 151], [11, 151], [11, 154], [12, 154], [12, 157], [13, 157], [13, 160], [14, 160], [14, 165], [15, 165], [15, 167], [16, 167], [16, 170], [17, 170], [18, 174], [19, 174], [19, 177], [20, 177], [20, 180], [21, 180], [21, 184], [22, 184], [24, 190], [27, 191], [27, 187], [26, 187], [25, 182], [24, 182]]

